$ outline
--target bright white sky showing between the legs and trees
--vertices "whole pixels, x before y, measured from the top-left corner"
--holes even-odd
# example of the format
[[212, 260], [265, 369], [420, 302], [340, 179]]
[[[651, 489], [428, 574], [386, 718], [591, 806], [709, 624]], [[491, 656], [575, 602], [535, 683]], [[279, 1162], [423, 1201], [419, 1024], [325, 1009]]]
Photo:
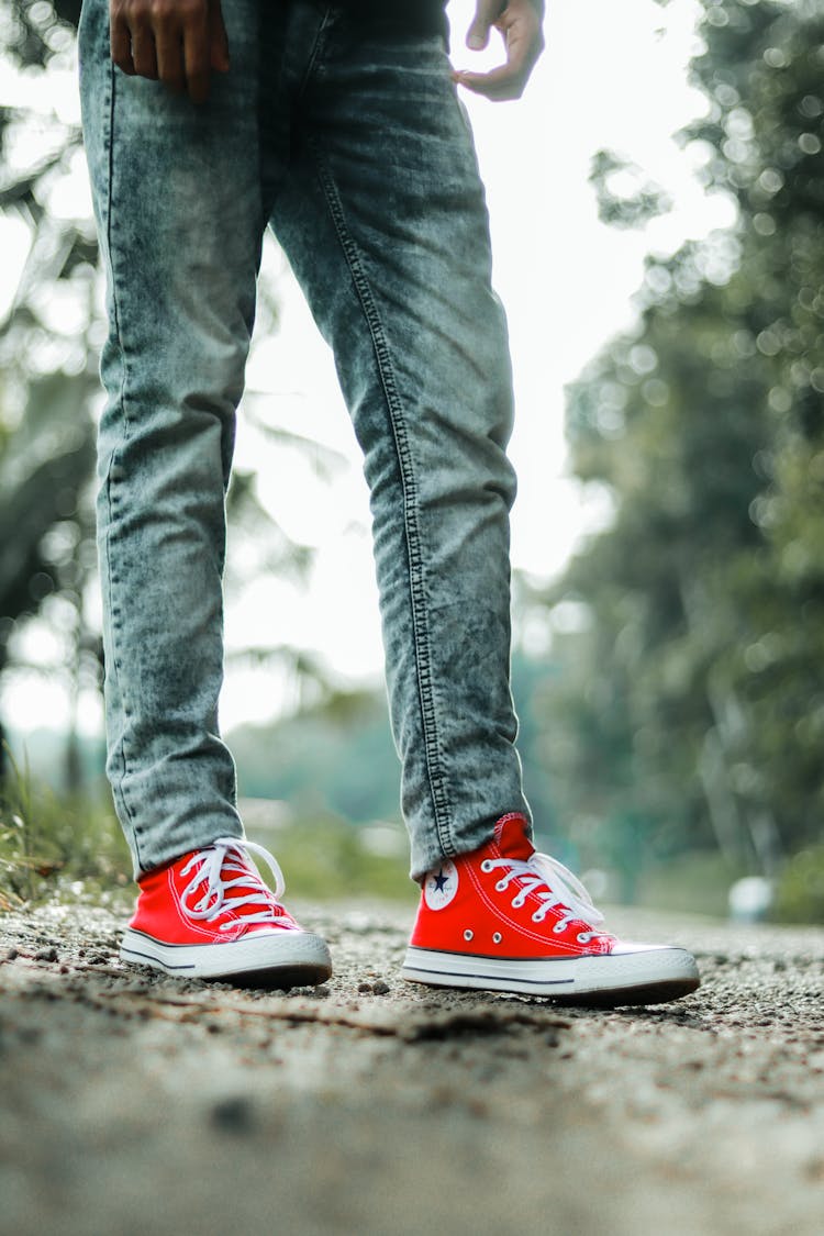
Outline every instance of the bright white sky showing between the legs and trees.
[[[615, 332], [634, 320], [631, 295], [644, 256], [671, 252], [733, 221], [730, 203], [708, 195], [694, 178], [702, 151], [681, 150], [672, 135], [704, 110], [686, 80], [696, 47], [696, 0], [550, 0], [547, 47], [525, 96], [490, 104], [465, 94], [487, 184], [495, 286], [507, 307], [515, 370], [518, 420], [511, 457], [519, 472], [513, 513], [513, 562], [535, 576], [558, 572], [587, 531], [604, 518], [603, 501], [582, 493], [566, 473], [563, 387]], [[453, 62], [495, 63], [500, 42], [481, 57], [463, 47], [472, 0], [452, 0]], [[0, 103], [20, 98], [20, 83], [0, 74]], [[54, 105], [72, 111], [70, 78], [54, 83]], [[11, 93], [14, 91], [14, 98]], [[628, 154], [675, 201], [645, 231], [598, 221], [587, 183], [592, 156], [608, 147]], [[69, 192], [67, 189], [67, 192]], [[75, 194], [86, 193], [83, 168]], [[65, 205], [69, 209], [69, 205]], [[5, 243], [4, 243], [5, 241]], [[0, 231], [4, 265], [14, 265], [14, 237]], [[241, 420], [237, 464], [263, 467], [261, 494], [299, 541], [319, 546], [308, 595], [262, 578], [230, 606], [230, 648], [293, 641], [319, 651], [346, 679], [376, 679], [382, 666], [377, 595], [361, 464], [337, 391], [331, 356], [288, 271], [272, 252], [282, 325], [259, 339], [248, 386], [274, 398], [267, 419], [308, 433], [350, 461], [331, 486], [305, 460], [278, 455]], [[0, 289], [0, 297], [2, 289]], [[25, 650], [48, 656], [48, 635], [32, 630]], [[261, 670], [232, 671], [222, 700], [225, 728], [288, 703], [284, 684]], [[10, 680], [0, 701], [15, 727], [58, 724], [59, 687], [31, 675]], [[84, 728], [99, 728], [99, 705], [83, 702]]]

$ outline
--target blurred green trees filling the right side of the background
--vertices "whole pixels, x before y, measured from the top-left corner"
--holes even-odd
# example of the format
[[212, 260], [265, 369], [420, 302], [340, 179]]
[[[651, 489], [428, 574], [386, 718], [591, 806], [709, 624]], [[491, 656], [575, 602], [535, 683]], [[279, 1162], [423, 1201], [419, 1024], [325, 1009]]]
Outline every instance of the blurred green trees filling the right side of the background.
[[[602, 842], [612, 819], [770, 874], [824, 810], [824, 4], [703, 4], [708, 110], [681, 138], [738, 222], [651, 258], [637, 329], [570, 391], [574, 471], [614, 519], [550, 596], [589, 628], [547, 713]], [[610, 199], [618, 166], [593, 168], [605, 218], [666, 206], [637, 176]]]

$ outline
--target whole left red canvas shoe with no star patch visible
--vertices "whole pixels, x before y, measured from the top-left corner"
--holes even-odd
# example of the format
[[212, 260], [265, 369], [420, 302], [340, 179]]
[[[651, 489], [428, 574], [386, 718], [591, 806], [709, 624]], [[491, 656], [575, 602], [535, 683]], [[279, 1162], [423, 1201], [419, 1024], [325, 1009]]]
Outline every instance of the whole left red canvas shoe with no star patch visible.
[[[247, 853], [269, 866], [274, 892]], [[280, 905], [283, 873], [262, 845], [221, 837], [149, 871], [120, 948], [124, 962], [167, 974], [293, 988], [332, 973], [326, 942], [303, 931]]]

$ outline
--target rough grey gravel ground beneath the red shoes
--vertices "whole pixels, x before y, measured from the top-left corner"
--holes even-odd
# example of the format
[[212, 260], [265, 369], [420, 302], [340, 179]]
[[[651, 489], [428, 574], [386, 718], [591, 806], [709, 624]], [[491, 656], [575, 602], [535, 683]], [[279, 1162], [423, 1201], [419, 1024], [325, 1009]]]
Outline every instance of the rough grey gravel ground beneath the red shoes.
[[703, 986], [604, 1012], [406, 984], [405, 912], [299, 908], [336, 973], [289, 994], [0, 918], [4, 1236], [824, 1231], [824, 931], [615, 912]]

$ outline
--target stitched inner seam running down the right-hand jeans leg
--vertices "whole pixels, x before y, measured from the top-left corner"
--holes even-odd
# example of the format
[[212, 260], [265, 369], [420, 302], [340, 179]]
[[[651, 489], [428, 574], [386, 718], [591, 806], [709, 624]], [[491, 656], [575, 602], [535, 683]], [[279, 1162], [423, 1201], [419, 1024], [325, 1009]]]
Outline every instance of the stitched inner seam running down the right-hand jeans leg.
[[435, 692], [432, 688], [431, 656], [429, 650], [429, 624], [426, 622], [424, 566], [420, 548], [420, 529], [416, 514], [418, 486], [415, 483], [409, 439], [403, 421], [401, 402], [398, 394], [389, 345], [383, 330], [380, 315], [372, 295], [369, 281], [361, 262], [357, 243], [346, 226], [346, 218], [335, 182], [317, 140], [310, 138], [308, 145], [315, 156], [324, 198], [326, 199], [332, 225], [343, 251], [350, 274], [352, 276], [352, 283], [355, 284], [355, 290], [361, 304], [369, 335], [372, 336], [376, 362], [380, 376], [380, 386], [383, 388], [387, 410], [389, 413], [389, 423], [392, 425], [404, 501], [404, 533], [409, 561], [409, 591], [411, 597], [415, 662], [418, 667], [418, 698], [420, 702], [421, 726], [424, 732], [426, 772], [430, 794], [432, 796], [435, 828], [437, 831], [441, 850], [445, 857], [452, 857], [456, 854], [456, 849], [450, 828], [450, 805], [446, 791], [446, 774], [441, 764], [437, 742], [437, 717], [435, 708]]

